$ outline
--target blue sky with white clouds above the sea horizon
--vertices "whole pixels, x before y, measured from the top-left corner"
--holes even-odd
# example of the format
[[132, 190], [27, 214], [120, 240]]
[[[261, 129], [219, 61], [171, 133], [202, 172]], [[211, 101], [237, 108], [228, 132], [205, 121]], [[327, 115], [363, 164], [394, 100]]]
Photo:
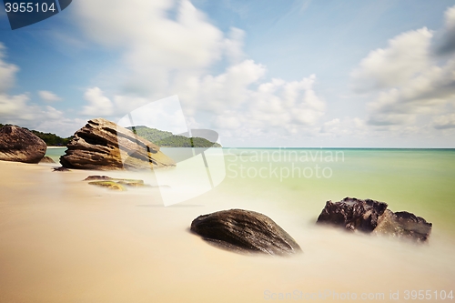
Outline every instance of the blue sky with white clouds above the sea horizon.
[[16, 30], [0, 7], [2, 124], [169, 122], [177, 98], [223, 146], [455, 147], [453, 0], [74, 0]]

